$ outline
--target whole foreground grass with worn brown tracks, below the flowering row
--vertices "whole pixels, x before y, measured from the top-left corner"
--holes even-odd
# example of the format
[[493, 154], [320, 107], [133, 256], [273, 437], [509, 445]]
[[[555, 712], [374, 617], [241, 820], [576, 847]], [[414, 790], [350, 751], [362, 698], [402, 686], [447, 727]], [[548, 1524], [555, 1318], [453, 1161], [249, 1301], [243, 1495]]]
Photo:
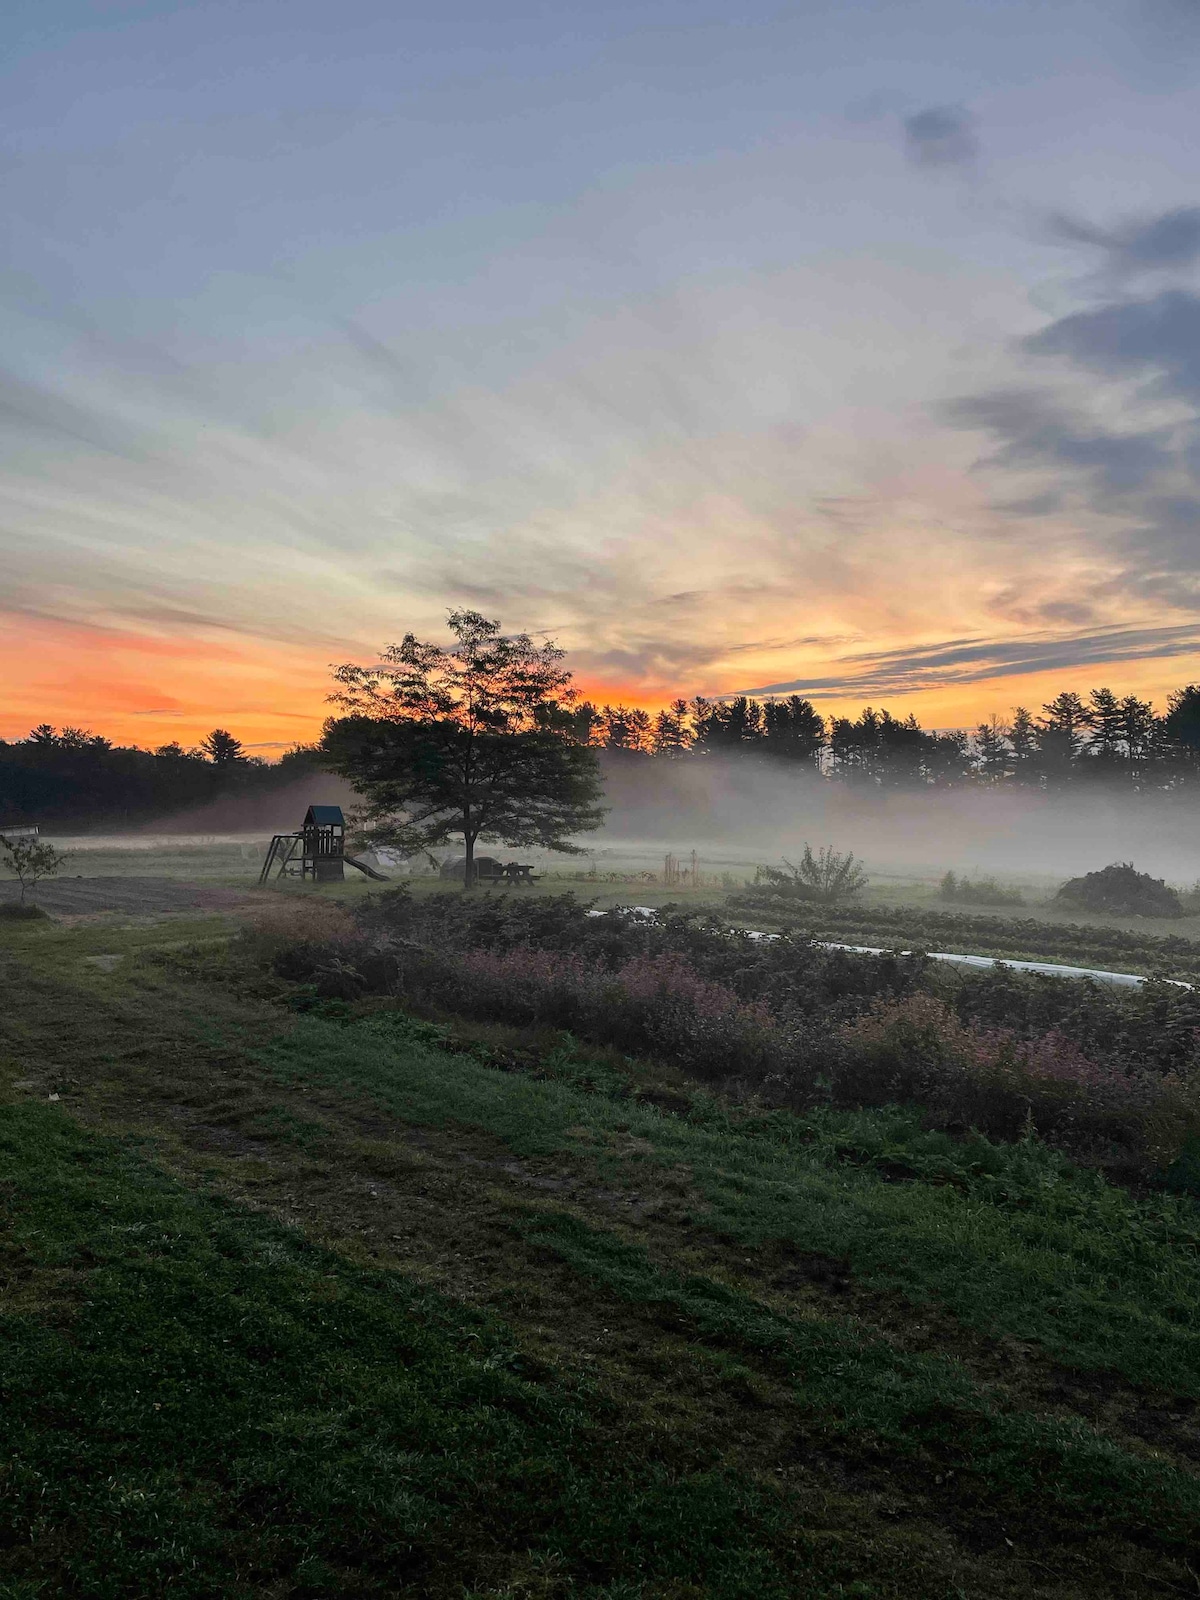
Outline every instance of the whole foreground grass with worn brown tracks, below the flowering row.
[[0, 936], [0, 1594], [1197, 1590], [1190, 1200], [501, 1070], [166, 933]]

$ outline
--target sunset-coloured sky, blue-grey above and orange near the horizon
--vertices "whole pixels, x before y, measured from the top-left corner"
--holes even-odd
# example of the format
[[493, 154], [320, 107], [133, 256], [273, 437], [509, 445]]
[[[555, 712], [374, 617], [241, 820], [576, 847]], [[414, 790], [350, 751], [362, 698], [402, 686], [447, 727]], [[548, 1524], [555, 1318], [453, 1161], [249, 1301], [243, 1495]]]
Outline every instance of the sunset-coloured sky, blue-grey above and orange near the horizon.
[[1200, 678], [1200, 0], [10, 0], [0, 738]]

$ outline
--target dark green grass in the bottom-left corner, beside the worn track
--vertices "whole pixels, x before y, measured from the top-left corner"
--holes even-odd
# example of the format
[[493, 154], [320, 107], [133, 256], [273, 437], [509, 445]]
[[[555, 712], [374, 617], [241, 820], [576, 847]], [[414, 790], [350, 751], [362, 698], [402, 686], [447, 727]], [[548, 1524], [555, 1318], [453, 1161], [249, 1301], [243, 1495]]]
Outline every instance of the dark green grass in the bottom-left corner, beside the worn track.
[[614, 1450], [488, 1318], [53, 1107], [0, 1157], [10, 1594], [805, 1589], [778, 1491]]

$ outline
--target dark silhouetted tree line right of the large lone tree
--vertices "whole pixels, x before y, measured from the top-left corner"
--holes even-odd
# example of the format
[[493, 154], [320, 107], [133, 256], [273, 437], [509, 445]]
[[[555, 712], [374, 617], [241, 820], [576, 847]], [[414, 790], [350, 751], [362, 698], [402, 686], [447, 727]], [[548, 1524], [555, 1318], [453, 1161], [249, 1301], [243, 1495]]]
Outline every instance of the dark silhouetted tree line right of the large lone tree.
[[1110, 779], [1171, 787], [1200, 776], [1200, 685], [1168, 696], [1166, 712], [1110, 688], [1070, 690], [1038, 712], [1018, 706], [1008, 722], [928, 731], [915, 715], [867, 706], [858, 717], [826, 717], [790, 694], [757, 701], [675, 699], [658, 715], [584, 701], [562, 714], [584, 744], [666, 760], [766, 757], [826, 778], [874, 784], [1034, 784]]

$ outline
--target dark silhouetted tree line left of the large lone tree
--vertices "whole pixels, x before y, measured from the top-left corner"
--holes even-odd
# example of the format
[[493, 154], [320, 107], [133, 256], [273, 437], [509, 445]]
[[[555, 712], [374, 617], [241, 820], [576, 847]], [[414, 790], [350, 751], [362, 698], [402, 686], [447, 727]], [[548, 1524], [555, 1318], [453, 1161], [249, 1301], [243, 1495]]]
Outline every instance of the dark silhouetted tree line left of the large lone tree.
[[322, 770], [317, 746], [267, 763], [214, 728], [200, 744], [155, 750], [112, 744], [86, 728], [40, 723], [0, 739], [0, 832], [21, 822], [136, 822], [230, 794], [261, 794]]

